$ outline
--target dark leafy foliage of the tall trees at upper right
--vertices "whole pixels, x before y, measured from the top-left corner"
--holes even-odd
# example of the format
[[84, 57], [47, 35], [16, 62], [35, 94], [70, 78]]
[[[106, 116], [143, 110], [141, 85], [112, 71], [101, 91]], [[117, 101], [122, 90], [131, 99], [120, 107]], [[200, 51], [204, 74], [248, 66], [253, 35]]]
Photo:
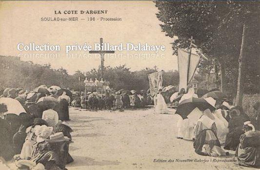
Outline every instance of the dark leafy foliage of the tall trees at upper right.
[[228, 91], [237, 87], [238, 58], [243, 24], [247, 25], [246, 65], [244, 72], [246, 92], [259, 88], [260, 2], [253, 1], [156, 1], [158, 19], [166, 36], [173, 41], [174, 54], [178, 48], [187, 48], [193, 36], [196, 45], [210, 58], [200, 62], [199, 69], [207, 72], [215, 59], [222, 70], [222, 83]]

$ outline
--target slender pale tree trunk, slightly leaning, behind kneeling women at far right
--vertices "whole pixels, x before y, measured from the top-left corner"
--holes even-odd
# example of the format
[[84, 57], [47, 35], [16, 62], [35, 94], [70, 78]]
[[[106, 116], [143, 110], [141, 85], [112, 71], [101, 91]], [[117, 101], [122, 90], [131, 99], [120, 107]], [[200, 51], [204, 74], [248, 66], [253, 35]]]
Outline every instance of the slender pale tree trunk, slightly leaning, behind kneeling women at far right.
[[244, 59], [245, 59], [244, 56], [245, 31], [246, 31], [246, 25], [244, 24], [241, 47], [240, 47], [240, 56], [239, 56], [239, 77], [238, 77], [238, 88], [237, 88], [237, 97], [235, 100], [235, 106], [242, 106], [242, 99], [243, 99], [244, 78], [242, 73], [244, 71]]

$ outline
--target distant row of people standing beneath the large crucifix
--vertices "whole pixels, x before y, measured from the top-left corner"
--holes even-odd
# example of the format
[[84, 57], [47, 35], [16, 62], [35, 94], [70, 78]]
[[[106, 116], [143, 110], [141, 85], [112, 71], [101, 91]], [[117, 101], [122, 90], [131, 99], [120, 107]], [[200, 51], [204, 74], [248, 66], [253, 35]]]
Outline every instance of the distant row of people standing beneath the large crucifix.
[[144, 91], [137, 93], [136, 90], [114, 91], [107, 89], [104, 94], [97, 92], [81, 92], [73, 97], [71, 103], [74, 107], [81, 107], [89, 110], [115, 110], [135, 109], [153, 105], [153, 98]]

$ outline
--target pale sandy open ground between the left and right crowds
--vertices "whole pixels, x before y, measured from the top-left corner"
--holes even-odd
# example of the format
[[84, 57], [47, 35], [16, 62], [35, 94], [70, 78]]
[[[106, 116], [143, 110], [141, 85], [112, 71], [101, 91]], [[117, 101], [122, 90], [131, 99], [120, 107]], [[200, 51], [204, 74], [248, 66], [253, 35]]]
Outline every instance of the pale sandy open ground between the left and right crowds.
[[192, 142], [175, 138], [174, 114], [70, 108], [70, 117], [74, 130], [70, 153], [75, 162], [66, 166], [68, 170], [247, 169], [226, 162], [233, 160], [232, 153], [226, 158], [196, 154]]

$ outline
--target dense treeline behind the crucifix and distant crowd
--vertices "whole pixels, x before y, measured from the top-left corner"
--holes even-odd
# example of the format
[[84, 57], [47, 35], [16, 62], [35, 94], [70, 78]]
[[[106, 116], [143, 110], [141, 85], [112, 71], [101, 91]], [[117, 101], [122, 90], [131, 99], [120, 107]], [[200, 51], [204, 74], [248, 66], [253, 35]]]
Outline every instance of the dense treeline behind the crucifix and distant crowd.
[[[100, 80], [100, 69], [92, 69], [88, 72], [77, 71], [69, 75], [64, 68], [53, 69], [50, 64], [34, 64], [32, 62], [20, 61], [18, 57], [0, 57], [0, 88], [23, 87], [33, 90], [39, 85], [59, 85], [62, 88], [69, 87], [74, 90], [83, 90], [83, 81], [98, 78]], [[125, 65], [116, 67], [105, 67], [103, 78], [110, 82], [110, 87], [119, 89], [147, 90], [149, 88], [148, 74], [158, 71], [157, 68], [145, 68], [140, 71], [130, 71]], [[80, 77], [80, 81], [79, 81]], [[202, 78], [197, 75], [197, 80]], [[80, 86], [81, 85], [81, 86]], [[178, 71], [163, 71], [163, 85], [179, 85]]]

